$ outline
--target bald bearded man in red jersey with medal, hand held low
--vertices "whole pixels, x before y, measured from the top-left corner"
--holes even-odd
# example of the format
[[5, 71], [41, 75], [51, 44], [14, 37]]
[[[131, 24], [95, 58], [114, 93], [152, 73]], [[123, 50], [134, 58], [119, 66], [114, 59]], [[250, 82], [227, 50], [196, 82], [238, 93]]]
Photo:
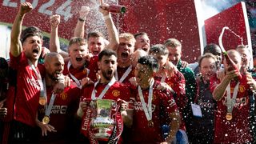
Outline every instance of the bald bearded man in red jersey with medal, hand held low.
[[[74, 131], [72, 119], [78, 109], [80, 89], [71, 82], [61, 94], [52, 92], [64, 69], [64, 59], [58, 53], [46, 54], [47, 106], [39, 106], [37, 125], [41, 128], [39, 142], [69, 142]], [[47, 121], [50, 120], [49, 121]]]

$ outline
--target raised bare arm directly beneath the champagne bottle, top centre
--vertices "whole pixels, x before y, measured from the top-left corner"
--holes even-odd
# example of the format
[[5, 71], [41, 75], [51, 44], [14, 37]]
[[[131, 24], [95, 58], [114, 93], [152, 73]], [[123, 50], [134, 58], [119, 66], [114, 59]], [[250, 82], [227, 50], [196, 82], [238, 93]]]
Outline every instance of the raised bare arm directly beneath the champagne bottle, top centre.
[[111, 18], [110, 12], [108, 12], [106, 9], [107, 9], [106, 4], [103, 4], [102, 6], [99, 7], [99, 11], [103, 14], [103, 18], [105, 20], [107, 34], [109, 37], [108, 39], [110, 42], [106, 46], [106, 48], [111, 49], [111, 50], [117, 50], [118, 44], [119, 44], [118, 30], [117, 30], [116, 26], [114, 26], [114, 22]]

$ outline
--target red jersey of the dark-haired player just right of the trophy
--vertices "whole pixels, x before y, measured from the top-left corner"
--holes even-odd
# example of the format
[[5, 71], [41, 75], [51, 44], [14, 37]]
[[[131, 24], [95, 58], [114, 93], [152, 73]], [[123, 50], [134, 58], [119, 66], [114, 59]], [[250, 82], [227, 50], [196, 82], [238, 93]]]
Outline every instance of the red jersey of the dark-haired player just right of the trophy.
[[[131, 101], [134, 102], [134, 119], [132, 134], [130, 139], [132, 143], [158, 143], [164, 142], [162, 138], [162, 124], [170, 122], [169, 114], [178, 110], [174, 98], [170, 92], [157, 90], [158, 82], [154, 82], [152, 98], [152, 121], [154, 127], [148, 126], [146, 114], [142, 109], [142, 102], [138, 95], [138, 88], [132, 90]], [[145, 102], [148, 102], [149, 89], [142, 90]]]

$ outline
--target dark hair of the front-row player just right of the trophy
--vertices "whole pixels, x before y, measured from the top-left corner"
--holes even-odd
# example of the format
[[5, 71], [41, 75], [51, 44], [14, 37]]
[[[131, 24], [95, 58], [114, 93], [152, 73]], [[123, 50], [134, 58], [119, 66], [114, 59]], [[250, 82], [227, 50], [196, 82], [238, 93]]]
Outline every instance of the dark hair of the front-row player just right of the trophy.
[[150, 70], [153, 70], [154, 72], [158, 71], [159, 69], [158, 60], [151, 55], [138, 58], [138, 63], [149, 66]]

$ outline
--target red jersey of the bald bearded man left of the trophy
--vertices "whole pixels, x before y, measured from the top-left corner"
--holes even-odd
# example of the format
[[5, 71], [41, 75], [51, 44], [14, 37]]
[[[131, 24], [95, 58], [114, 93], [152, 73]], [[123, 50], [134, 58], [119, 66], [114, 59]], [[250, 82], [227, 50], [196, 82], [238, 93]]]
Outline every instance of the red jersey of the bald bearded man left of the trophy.
[[[50, 103], [52, 88], [47, 87], [47, 104]], [[72, 133], [69, 130], [76, 110], [78, 110], [81, 90], [71, 82], [70, 87], [66, 87], [62, 94], [57, 94], [54, 100], [53, 108], [50, 112], [50, 125], [54, 126], [57, 132], [47, 133], [47, 136], [41, 137], [42, 142], [62, 142]], [[42, 121], [45, 115], [44, 106], [39, 106], [38, 119]]]

